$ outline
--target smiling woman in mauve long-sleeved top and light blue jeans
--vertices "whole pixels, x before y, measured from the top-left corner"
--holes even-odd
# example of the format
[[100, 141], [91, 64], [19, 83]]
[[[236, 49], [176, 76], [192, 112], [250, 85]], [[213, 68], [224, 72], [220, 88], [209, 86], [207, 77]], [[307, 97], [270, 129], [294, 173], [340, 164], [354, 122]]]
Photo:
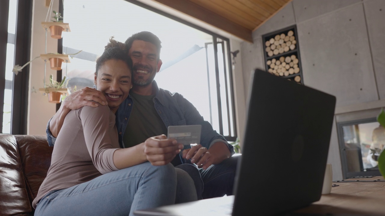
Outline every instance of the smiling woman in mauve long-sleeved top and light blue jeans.
[[65, 117], [32, 203], [35, 215], [133, 215], [175, 202], [172, 164], [152, 166], [139, 146], [119, 148], [114, 114], [132, 88], [131, 68], [124, 44], [110, 39], [95, 71], [108, 106], [84, 106]]

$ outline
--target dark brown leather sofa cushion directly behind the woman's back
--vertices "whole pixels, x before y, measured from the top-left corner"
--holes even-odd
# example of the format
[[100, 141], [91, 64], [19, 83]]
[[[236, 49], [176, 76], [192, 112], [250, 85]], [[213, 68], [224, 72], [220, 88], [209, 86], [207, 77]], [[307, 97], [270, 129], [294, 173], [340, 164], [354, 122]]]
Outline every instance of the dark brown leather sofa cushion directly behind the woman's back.
[[47, 176], [54, 147], [48, 145], [47, 136], [15, 135], [15, 138], [27, 183], [29, 201], [32, 205], [40, 185]]

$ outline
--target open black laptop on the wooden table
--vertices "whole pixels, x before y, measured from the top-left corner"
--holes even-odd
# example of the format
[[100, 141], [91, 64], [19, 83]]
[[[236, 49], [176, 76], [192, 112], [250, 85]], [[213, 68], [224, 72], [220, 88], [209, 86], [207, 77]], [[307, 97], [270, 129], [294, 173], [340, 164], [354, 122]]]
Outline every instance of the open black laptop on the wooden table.
[[335, 96], [265, 71], [253, 71], [234, 195], [134, 213], [142, 216], [275, 215], [318, 201], [335, 103]]

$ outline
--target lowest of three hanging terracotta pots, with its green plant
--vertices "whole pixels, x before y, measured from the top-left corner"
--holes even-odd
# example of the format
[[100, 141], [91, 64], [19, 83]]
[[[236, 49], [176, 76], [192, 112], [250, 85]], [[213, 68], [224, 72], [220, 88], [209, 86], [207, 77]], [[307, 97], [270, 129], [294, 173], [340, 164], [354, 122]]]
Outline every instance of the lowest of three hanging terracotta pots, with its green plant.
[[58, 82], [53, 79], [53, 75], [49, 76], [49, 83], [45, 86], [45, 93], [48, 94], [48, 101], [51, 103], [60, 103], [62, 102], [63, 92], [68, 91], [67, 86], [68, 79], [64, 76], [61, 82]]

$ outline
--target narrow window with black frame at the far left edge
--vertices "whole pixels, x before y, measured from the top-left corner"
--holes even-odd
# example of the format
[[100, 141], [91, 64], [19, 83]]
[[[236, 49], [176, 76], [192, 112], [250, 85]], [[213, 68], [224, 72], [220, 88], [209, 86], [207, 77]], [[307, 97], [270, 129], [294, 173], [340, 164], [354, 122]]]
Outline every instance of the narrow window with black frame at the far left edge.
[[29, 61], [32, 2], [3, 0], [0, 5], [0, 133], [26, 134], [28, 72], [15, 76], [12, 69]]

